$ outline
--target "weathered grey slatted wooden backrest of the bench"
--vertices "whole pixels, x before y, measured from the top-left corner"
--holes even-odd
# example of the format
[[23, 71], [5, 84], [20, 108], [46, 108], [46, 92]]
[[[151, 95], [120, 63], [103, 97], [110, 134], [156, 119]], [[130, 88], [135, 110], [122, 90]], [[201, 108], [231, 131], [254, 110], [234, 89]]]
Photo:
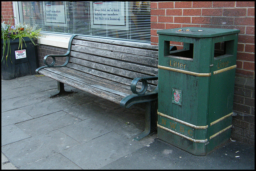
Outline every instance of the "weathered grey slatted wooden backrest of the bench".
[[[76, 36], [67, 67], [125, 85], [136, 77], [158, 74], [158, 46]], [[149, 88], [157, 81], [149, 81]]]

